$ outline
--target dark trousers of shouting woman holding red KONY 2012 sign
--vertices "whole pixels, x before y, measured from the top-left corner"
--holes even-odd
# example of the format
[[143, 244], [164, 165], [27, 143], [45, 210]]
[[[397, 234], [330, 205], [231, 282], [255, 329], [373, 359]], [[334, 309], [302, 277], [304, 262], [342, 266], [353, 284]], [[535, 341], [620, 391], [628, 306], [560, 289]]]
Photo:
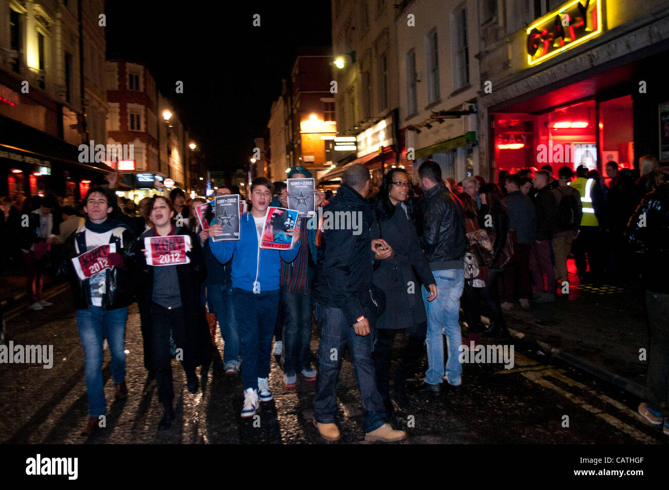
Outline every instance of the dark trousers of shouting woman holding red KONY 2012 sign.
[[[171, 403], [174, 398], [169, 336], [173, 330], [183, 328], [183, 316], [184, 310], [181, 307], [168, 309], [157, 303], [151, 303], [151, 352], [153, 352], [153, 369], [158, 386], [158, 398], [163, 404]], [[177, 343], [178, 348], [179, 344]], [[179, 350], [177, 350], [177, 358], [179, 358]], [[195, 366], [188, 363], [188, 356], [183, 355], [181, 365], [186, 372], [186, 376], [195, 376]]]

